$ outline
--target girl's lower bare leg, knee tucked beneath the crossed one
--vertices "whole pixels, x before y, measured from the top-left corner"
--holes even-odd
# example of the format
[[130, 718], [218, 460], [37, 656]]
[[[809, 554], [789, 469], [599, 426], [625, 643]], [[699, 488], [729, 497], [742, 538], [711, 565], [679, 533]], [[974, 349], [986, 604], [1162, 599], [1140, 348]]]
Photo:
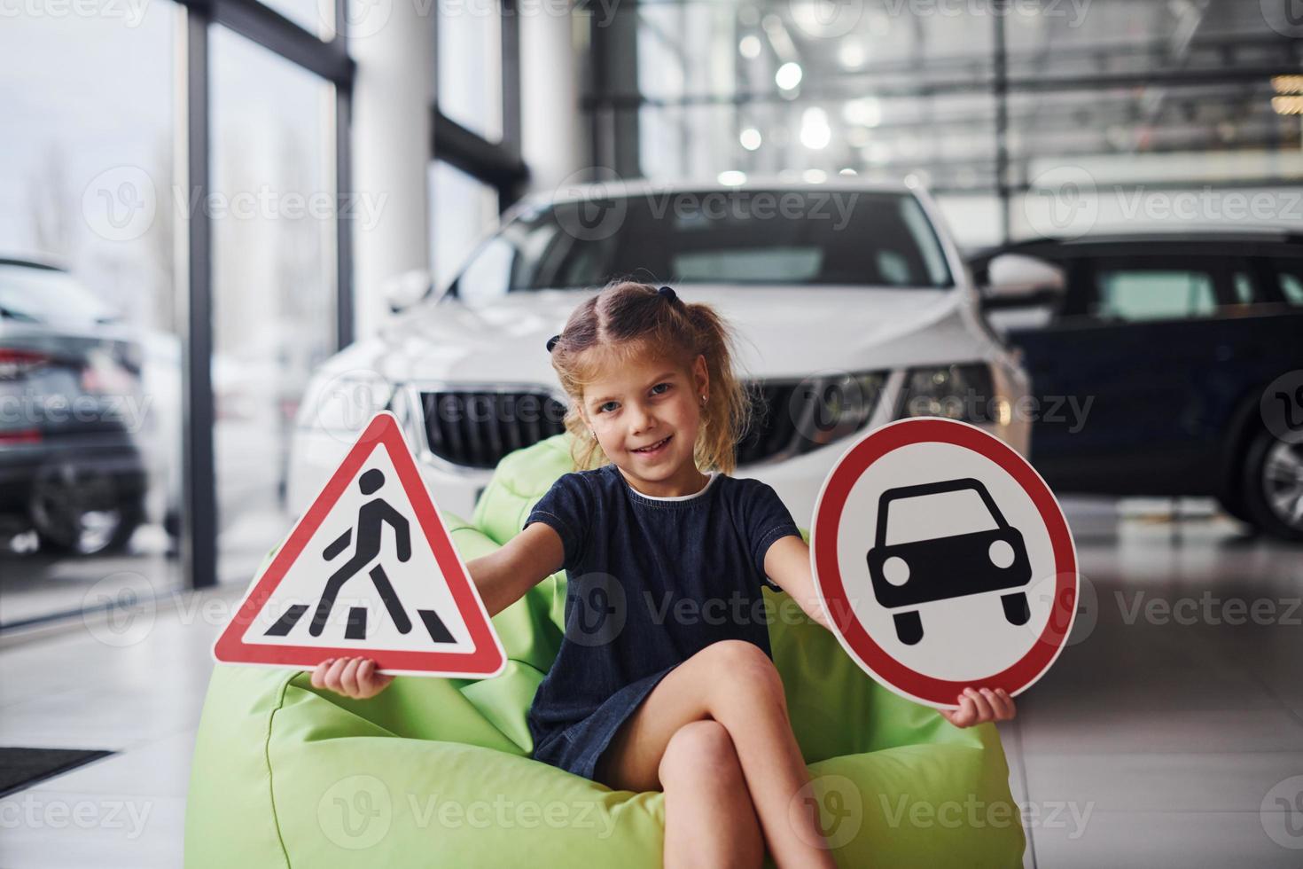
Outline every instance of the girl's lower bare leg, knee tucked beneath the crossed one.
[[728, 731], [702, 719], [684, 724], [658, 767], [665, 784], [665, 865], [756, 869], [765, 840]]

